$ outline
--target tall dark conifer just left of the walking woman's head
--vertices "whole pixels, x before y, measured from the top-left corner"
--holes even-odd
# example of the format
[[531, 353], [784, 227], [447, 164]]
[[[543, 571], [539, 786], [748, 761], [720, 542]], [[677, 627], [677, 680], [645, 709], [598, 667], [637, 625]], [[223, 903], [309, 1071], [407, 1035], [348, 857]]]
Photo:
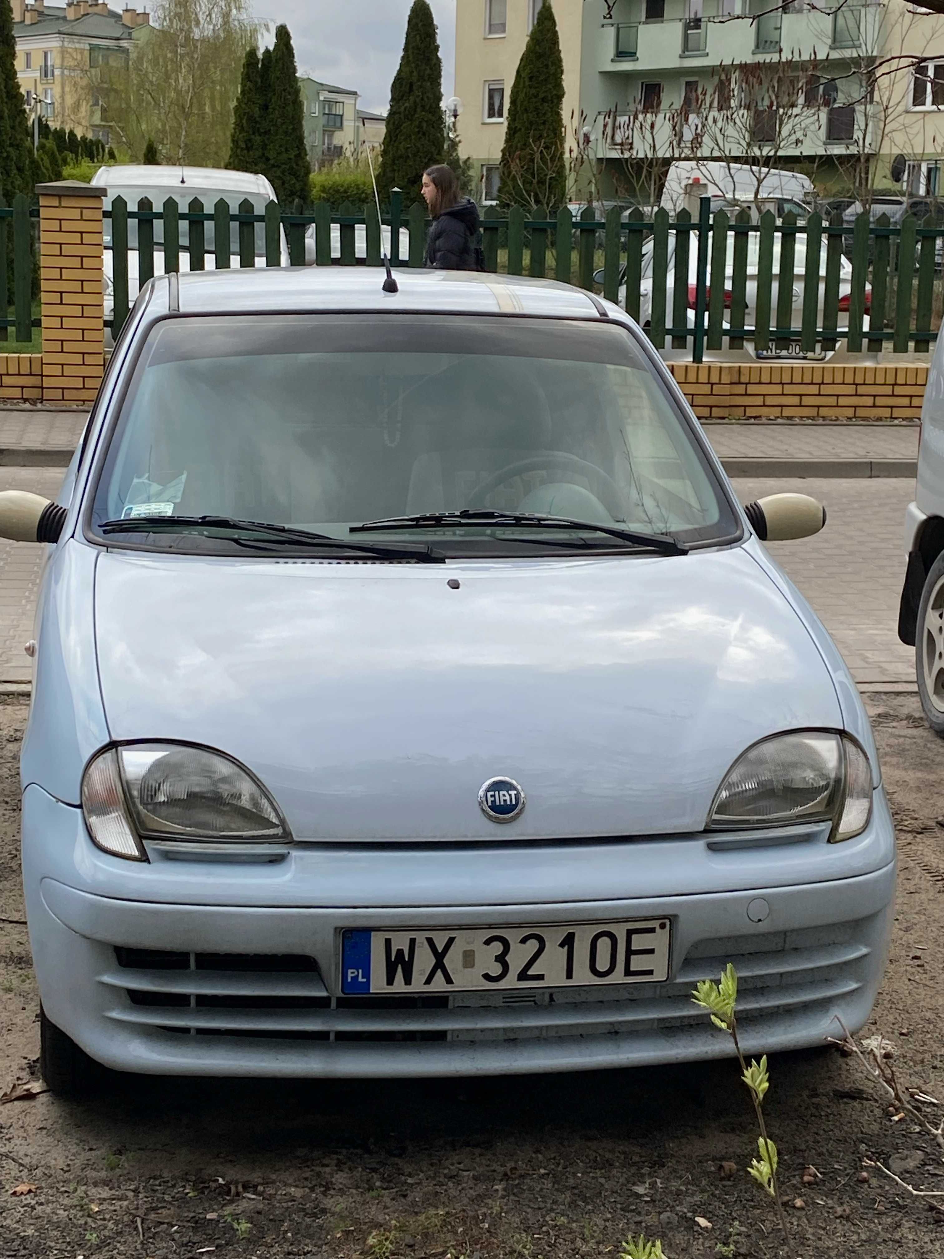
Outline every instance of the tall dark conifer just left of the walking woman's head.
[[413, 0], [407, 21], [400, 68], [390, 88], [379, 184], [384, 198], [403, 190], [404, 205], [420, 198], [423, 171], [443, 160], [443, 63], [433, 11], [427, 0]]

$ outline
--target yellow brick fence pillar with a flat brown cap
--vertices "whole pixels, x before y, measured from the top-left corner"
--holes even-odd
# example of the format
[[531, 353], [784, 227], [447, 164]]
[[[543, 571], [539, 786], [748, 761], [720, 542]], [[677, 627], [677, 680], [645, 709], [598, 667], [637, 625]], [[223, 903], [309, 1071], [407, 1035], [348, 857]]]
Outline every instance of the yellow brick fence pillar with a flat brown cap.
[[104, 370], [103, 188], [38, 184], [43, 400], [91, 407]]

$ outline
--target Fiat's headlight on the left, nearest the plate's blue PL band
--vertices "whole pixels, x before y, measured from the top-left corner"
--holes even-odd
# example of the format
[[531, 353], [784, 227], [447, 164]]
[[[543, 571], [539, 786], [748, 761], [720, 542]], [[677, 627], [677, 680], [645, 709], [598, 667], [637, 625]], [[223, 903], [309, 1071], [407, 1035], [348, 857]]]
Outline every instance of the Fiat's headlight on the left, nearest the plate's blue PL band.
[[253, 776], [206, 748], [137, 743], [99, 753], [82, 781], [82, 808], [94, 844], [146, 861], [141, 837], [278, 842], [291, 832]]

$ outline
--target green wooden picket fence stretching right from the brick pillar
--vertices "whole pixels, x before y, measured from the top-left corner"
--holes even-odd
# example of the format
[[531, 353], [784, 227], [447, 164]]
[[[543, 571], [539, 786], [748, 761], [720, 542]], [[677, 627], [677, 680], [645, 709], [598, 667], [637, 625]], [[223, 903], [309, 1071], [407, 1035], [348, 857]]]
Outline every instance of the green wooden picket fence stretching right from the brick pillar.
[[[263, 215], [249, 201], [233, 213], [225, 200], [204, 206], [195, 199], [184, 212], [174, 198], [136, 209], [116, 198], [106, 219], [116, 334], [136, 292], [131, 254], [138, 285], [155, 274], [161, 252], [160, 269], [169, 272], [183, 253], [191, 271], [206, 269], [208, 259], [216, 269], [380, 266], [389, 242], [394, 267], [422, 267], [428, 230], [424, 208], [404, 213], [396, 195], [383, 234], [371, 206], [352, 205], [310, 214], [269, 205]], [[816, 359], [842, 342], [852, 353], [875, 354], [886, 342], [897, 354], [926, 353], [944, 303], [944, 227], [931, 219], [892, 225], [882, 217], [872, 225], [861, 214], [850, 228], [838, 218], [811, 214], [798, 223], [768, 212], [751, 222], [746, 210], [712, 217], [707, 199], [697, 218], [681, 212], [675, 219], [666, 210], [646, 219], [614, 208], [598, 220], [590, 208], [576, 218], [568, 208], [556, 215], [539, 209], [534, 218], [488, 208], [482, 253], [486, 271], [602, 292], [642, 321], [657, 349], [687, 351], [696, 363], [706, 350], [743, 350], [745, 342], [758, 356], [780, 359]]]

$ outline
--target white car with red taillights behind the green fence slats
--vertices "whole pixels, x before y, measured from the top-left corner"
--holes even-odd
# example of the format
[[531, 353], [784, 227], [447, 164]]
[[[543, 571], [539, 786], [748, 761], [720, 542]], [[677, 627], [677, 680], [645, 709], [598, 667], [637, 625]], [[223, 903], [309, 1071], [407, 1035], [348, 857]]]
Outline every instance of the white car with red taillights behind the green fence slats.
[[[666, 281], [666, 327], [672, 327], [672, 312], [675, 306], [675, 233], [670, 233], [668, 237], [668, 272]], [[652, 293], [653, 293], [653, 276], [652, 276], [652, 249], [653, 242], [649, 237], [648, 240], [643, 243], [642, 247], [642, 277], [639, 285], [639, 322], [643, 327], [648, 327], [652, 319]], [[760, 237], [751, 232], [748, 235], [748, 282], [745, 290], [746, 311], [744, 315], [744, 326], [748, 331], [754, 330], [754, 324], [756, 320], [756, 302], [758, 302], [758, 261], [760, 254]], [[695, 301], [696, 301], [696, 283], [699, 277], [697, 269], [699, 258], [699, 246], [697, 237], [695, 233], [691, 234], [691, 240], [688, 246], [688, 292], [686, 296], [686, 325], [687, 327], [695, 327]], [[798, 235], [794, 244], [793, 253], [793, 286], [790, 292], [790, 327], [798, 329], [803, 320], [803, 297], [806, 292], [806, 271], [807, 271], [807, 242], [803, 235]], [[709, 253], [709, 285], [710, 285], [710, 272], [711, 272], [711, 256]], [[819, 256], [819, 276], [822, 283], [819, 286], [818, 298], [817, 298], [817, 326], [822, 327], [823, 324], [823, 298], [824, 298], [824, 276], [826, 276], [826, 243], [821, 246]], [[724, 347], [728, 347], [728, 331], [730, 329], [730, 308], [731, 308], [731, 290], [734, 285], [734, 234], [728, 237], [728, 257], [725, 261], [725, 319], [724, 319], [724, 332], [725, 342]], [[770, 285], [770, 324], [769, 327], [773, 331], [777, 324], [777, 306], [780, 296], [780, 237], [774, 238], [773, 249], [773, 281]], [[603, 272], [597, 272], [594, 277], [602, 281]], [[709, 287], [710, 292], [710, 287]], [[865, 308], [868, 312], [871, 301], [871, 287], [866, 286], [866, 298]], [[845, 257], [840, 257], [840, 302], [838, 302], [838, 315], [836, 326], [838, 329], [848, 327], [848, 310], [852, 295], [852, 264]], [[626, 271], [621, 276], [619, 287], [619, 305], [626, 307]], [[707, 320], [707, 312], [706, 312]], [[812, 358], [813, 355], [807, 355], [803, 353], [799, 337], [788, 342], [788, 345], [777, 346], [775, 342], [770, 341], [770, 346], [767, 350], [756, 350], [754, 341], [748, 337], [745, 340], [745, 347], [748, 354], [755, 359], [801, 359]], [[816, 358], [822, 360], [831, 358], [834, 351], [818, 351]]]

